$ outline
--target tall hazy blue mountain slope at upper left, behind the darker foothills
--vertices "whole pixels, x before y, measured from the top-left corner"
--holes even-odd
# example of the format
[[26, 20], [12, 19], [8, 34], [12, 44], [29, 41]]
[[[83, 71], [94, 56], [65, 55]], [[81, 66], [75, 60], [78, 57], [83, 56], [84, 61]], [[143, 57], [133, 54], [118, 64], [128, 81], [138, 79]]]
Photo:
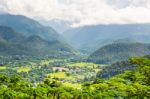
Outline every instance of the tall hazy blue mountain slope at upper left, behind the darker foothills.
[[64, 41], [53, 28], [22, 15], [0, 14], [0, 20], [0, 25], [11, 27], [25, 36], [38, 35], [48, 41]]

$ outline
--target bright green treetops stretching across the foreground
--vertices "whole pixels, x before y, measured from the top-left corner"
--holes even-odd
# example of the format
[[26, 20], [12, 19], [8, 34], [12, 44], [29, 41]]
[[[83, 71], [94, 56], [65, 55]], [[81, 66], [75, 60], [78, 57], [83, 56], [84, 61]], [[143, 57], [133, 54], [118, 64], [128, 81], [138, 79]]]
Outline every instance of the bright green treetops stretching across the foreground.
[[34, 85], [16, 75], [0, 75], [1, 99], [149, 99], [150, 60], [130, 59], [136, 70], [104, 79], [86, 82], [81, 88], [65, 87], [59, 81], [45, 78]]

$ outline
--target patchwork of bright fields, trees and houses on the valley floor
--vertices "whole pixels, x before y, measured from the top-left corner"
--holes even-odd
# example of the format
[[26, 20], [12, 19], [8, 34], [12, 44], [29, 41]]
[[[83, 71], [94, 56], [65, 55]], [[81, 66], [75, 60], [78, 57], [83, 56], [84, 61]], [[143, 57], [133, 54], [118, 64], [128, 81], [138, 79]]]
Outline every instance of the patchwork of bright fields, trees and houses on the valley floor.
[[62, 83], [77, 84], [87, 79], [95, 78], [103, 65], [89, 62], [73, 62], [70, 59], [41, 60], [24, 59], [8, 61], [6, 66], [0, 66], [0, 73], [22, 75], [29, 81], [37, 83], [45, 77], [56, 79]]

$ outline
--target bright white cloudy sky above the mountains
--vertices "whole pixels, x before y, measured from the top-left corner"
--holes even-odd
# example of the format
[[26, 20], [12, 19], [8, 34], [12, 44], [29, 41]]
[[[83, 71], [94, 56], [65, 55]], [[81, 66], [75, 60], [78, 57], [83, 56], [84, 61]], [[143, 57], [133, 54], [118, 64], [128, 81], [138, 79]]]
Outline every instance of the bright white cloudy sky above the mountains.
[[72, 27], [150, 23], [150, 0], [0, 0], [0, 12], [68, 21]]

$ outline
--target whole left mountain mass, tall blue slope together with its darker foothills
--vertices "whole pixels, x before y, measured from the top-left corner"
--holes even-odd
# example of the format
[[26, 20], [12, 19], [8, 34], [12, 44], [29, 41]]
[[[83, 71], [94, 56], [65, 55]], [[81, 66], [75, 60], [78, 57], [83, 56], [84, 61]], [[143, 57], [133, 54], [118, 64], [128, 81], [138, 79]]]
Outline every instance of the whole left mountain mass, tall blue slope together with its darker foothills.
[[73, 54], [73, 49], [53, 28], [20, 15], [0, 15], [0, 54]]

